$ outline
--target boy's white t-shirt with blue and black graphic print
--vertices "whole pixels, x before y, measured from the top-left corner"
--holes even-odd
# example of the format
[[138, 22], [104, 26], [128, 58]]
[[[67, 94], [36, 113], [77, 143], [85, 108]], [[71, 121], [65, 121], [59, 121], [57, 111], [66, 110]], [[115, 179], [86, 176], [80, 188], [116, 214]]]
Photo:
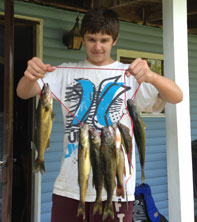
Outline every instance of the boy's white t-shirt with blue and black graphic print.
[[[100, 130], [103, 126], [119, 121], [123, 112], [126, 113], [125, 98], [127, 100], [133, 96], [138, 83], [133, 76], [125, 77], [124, 70], [128, 68], [128, 64], [118, 61], [106, 66], [95, 66], [85, 60], [78, 63], [64, 63], [60, 67], [62, 68], [47, 73], [43, 79], [45, 83], [49, 83], [51, 91], [64, 104], [62, 105], [65, 129], [64, 154], [53, 192], [79, 200], [77, 165], [79, 122], [86, 122], [91, 127]], [[42, 88], [43, 82], [38, 80], [38, 83]], [[148, 83], [142, 83], [137, 92], [135, 103], [140, 110], [151, 112], [157, 95], [158, 91], [155, 87]], [[157, 105], [157, 111], [162, 109], [163, 105]], [[128, 114], [125, 114], [120, 122], [132, 129]], [[135, 147], [134, 138], [132, 141], [133, 147]], [[130, 178], [126, 183], [129, 201], [134, 200], [136, 180], [135, 149], [132, 152], [133, 173], [131, 177], [128, 160], [125, 158], [125, 181]], [[116, 189], [113, 201], [120, 200], [115, 192]], [[96, 190], [92, 186], [91, 171], [86, 201], [95, 201], [95, 197]], [[104, 188], [102, 199], [107, 199]], [[126, 195], [125, 199], [121, 198], [121, 201], [126, 201]]]

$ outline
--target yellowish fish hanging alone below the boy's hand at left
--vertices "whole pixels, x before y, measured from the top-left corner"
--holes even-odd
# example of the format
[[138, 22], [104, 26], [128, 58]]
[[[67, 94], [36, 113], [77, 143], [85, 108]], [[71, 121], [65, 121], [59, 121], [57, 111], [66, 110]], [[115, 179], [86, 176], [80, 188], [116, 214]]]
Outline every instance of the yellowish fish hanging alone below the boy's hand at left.
[[44, 153], [50, 145], [50, 135], [54, 119], [53, 98], [48, 83], [45, 83], [41, 90], [35, 116], [34, 146], [38, 151], [38, 156], [33, 166], [33, 172], [40, 171], [44, 174]]

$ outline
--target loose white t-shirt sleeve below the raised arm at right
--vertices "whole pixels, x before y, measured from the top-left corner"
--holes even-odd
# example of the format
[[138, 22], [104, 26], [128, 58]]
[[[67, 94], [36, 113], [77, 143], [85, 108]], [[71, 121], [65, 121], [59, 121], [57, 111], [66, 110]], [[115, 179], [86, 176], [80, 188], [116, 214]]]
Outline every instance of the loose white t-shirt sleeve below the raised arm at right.
[[142, 83], [137, 92], [135, 103], [141, 112], [160, 113], [166, 102], [158, 97], [158, 90], [149, 83]]

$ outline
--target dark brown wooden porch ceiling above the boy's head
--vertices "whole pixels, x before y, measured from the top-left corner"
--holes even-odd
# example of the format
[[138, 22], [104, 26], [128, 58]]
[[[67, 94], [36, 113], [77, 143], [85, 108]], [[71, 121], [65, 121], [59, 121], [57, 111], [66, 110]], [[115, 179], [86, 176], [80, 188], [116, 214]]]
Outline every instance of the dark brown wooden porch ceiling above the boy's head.
[[[162, 0], [21, 0], [72, 11], [86, 12], [91, 7], [107, 7], [121, 21], [162, 27]], [[197, 2], [187, 0], [188, 33], [197, 34]]]

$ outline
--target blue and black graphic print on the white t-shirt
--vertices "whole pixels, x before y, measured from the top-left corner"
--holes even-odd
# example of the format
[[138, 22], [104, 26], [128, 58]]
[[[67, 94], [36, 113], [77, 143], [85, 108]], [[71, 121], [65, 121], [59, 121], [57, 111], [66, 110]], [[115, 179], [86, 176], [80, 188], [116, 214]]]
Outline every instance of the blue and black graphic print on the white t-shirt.
[[68, 149], [65, 158], [78, 148], [78, 133], [81, 123], [86, 122], [96, 130], [112, 125], [120, 120], [124, 96], [130, 87], [118, 82], [121, 76], [107, 78], [96, 86], [90, 79], [75, 79], [72, 86], [66, 89], [65, 102], [71, 104], [68, 113], [65, 134], [68, 134]]

